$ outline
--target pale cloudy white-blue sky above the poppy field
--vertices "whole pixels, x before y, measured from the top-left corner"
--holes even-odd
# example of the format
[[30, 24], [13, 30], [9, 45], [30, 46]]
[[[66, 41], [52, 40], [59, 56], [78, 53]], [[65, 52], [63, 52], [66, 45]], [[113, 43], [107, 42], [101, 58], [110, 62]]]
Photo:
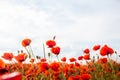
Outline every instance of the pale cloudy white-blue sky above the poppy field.
[[[32, 40], [35, 55], [56, 36], [60, 57], [77, 57], [96, 44], [120, 54], [120, 0], [0, 0], [0, 54], [24, 50]], [[46, 48], [46, 53], [49, 50]], [[94, 55], [94, 53], [91, 53]]]

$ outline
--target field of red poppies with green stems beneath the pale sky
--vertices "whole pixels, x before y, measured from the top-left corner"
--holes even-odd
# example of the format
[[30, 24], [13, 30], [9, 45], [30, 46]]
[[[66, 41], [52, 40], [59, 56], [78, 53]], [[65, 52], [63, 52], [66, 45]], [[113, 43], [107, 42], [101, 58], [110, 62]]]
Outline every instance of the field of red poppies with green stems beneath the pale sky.
[[[91, 57], [91, 50], [85, 48], [78, 57], [59, 58], [61, 47], [55, 37], [43, 44], [43, 57], [35, 55], [31, 42], [29, 38], [23, 39], [21, 45], [25, 51], [18, 51], [17, 55], [2, 54], [0, 80], [120, 80], [120, 55], [109, 45], [93, 45], [92, 51], [97, 56]], [[45, 46], [50, 52], [46, 53]], [[113, 55], [115, 59], [111, 58]]]

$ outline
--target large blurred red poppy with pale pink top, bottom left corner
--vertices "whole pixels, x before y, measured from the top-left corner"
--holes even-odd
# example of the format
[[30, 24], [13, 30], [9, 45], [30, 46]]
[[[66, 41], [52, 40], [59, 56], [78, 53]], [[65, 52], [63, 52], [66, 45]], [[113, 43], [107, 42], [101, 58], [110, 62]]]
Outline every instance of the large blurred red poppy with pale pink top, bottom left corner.
[[0, 80], [22, 80], [22, 74], [19, 72], [4, 74], [0, 76]]

